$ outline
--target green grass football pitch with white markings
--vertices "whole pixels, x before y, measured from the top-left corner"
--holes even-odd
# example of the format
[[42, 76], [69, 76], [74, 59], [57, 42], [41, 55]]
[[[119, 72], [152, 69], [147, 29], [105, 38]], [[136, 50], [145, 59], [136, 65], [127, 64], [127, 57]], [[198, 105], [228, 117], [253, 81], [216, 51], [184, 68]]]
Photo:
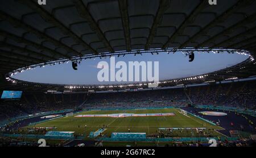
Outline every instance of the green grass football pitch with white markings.
[[[174, 116], [160, 117], [126, 117], [126, 118], [111, 118], [111, 117], [75, 117], [81, 114], [119, 114], [119, 113], [134, 113], [134, 114], [152, 114], [152, 113], [174, 113]], [[36, 124], [28, 127], [57, 127], [57, 131], [75, 131], [75, 135], [88, 136], [90, 132], [97, 131], [105, 126], [107, 128], [104, 134], [110, 136], [112, 132], [146, 132], [147, 135], [158, 133], [158, 128], [168, 127], [205, 127], [207, 133], [212, 136], [220, 136], [221, 134], [216, 129], [221, 130], [221, 127], [214, 126], [204, 120], [181, 114], [180, 109], [139, 109], [139, 110], [101, 110], [101, 111], [84, 111], [70, 117], [63, 117], [49, 120], [47, 122]], [[85, 127], [86, 125], [86, 127]], [[27, 128], [27, 127], [26, 127]], [[203, 136], [198, 135], [191, 130], [173, 131], [172, 136], [175, 137], [192, 137]]]

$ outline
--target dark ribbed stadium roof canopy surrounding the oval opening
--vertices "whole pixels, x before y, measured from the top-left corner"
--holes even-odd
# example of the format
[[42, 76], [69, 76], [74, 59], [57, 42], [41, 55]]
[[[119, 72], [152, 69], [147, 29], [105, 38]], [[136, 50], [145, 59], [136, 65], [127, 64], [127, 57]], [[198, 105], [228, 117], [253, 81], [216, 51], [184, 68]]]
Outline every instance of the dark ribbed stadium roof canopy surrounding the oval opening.
[[[46, 2], [0, 2], [1, 89], [12, 87], [4, 76], [14, 69], [88, 54], [208, 47], [245, 49], [255, 56], [254, 0], [217, 1], [217, 5], [208, 0]], [[218, 77], [256, 74], [254, 63], [224, 72]]]

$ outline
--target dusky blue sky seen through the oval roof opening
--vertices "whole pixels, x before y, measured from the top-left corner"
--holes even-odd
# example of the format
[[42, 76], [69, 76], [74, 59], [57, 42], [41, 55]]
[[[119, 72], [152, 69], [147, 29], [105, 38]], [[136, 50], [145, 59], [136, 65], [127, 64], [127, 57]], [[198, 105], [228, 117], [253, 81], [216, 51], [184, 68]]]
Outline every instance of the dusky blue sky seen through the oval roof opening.
[[[188, 62], [188, 56], [176, 52], [159, 53], [159, 55], [151, 55], [144, 53], [141, 55], [126, 55], [125, 57], [115, 57], [115, 63], [125, 61], [128, 65], [129, 61], [159, 61], [159, 80], [167, 80], [171, 78], [189, 77], [215, 70], [224, 69], [226, 67], [241, 63], [248, 56], [238, 55], [237, 53], [195, 53], [195, 60]], [[110, 65], [110, 58], [106, 59], [86, 59], [78, 65], [78, 70], [73, 70], [71, 62], [68, 64], [56, 64], [53, 66], [45, 66], [44, 68], [35, 68], [26, 70], [13, 76], [16, 79], [40, 82], [48, 84], [123, 84], [125, 82], [100, 82], [97, 80], [97, 73], [100, 69], [97, 64], [100, 61], [107, 61]], [[118, 69], [115, 69], [117, 72]]]

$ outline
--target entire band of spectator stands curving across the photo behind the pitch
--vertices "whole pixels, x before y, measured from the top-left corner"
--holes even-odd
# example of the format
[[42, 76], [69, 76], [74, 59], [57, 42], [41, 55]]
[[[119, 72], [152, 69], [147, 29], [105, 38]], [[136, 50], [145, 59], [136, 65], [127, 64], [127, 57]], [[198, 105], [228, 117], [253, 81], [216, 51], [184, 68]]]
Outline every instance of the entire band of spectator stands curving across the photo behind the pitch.
[[[189, 103], [255, 110], [256, 81], [230, 82], [176, 89], [112, 93], [28, 93], [20, 101], [0, 102], [0, 120], [46, 111], [185, 107]], [[189, 101], [192, 101], [190, 102]]]

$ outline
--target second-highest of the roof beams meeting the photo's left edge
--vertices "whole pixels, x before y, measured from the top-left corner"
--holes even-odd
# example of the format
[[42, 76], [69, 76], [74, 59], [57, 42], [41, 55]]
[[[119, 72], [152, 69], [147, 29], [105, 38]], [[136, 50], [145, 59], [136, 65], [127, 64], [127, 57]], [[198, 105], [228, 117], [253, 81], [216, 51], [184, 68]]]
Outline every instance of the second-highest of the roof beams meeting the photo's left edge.
[[0, 30], [0, 35], [1, 35], [1, 36], [5, 36], [5, 37], [7, 37], [7, 38], [10, 38], [10, 39], [12, 39], [12, 40], [14, 40], [14, 41], [16, 41], [16, 42], [18, 42], [18, 43], [25, 43], [25, 44], [31, 45], [31, 46], [33, 46], [33, 47], [35, 47], [35, 48], [37, 48], [37, 49], [47, 51], [47, 52], [51, 53], [53, 57], [54, 57], [55, 55], [59, 55], [59, 56], [61, 56], [61, 58], [63, 58], [63, 57], [69, 58], [68, 55], [64, 55], [64, 54], [59, 53], [59, 52], [57, 52], [57, 51], [53, 51], [52, 49], [49, 49], [49, 48], [47, 48], [47, 47], [44, 47], [43, 45], [34, 43], [34, 42], [29, 41], [29, 40], [27, 40], [27, 39], [24, 39], [24, 38], [22, 38], [22, 37], [19, 37], [19, 36], [10, 34], [9, 32], [5, 32], [5, 31], [1, 31], [1, 30]]

